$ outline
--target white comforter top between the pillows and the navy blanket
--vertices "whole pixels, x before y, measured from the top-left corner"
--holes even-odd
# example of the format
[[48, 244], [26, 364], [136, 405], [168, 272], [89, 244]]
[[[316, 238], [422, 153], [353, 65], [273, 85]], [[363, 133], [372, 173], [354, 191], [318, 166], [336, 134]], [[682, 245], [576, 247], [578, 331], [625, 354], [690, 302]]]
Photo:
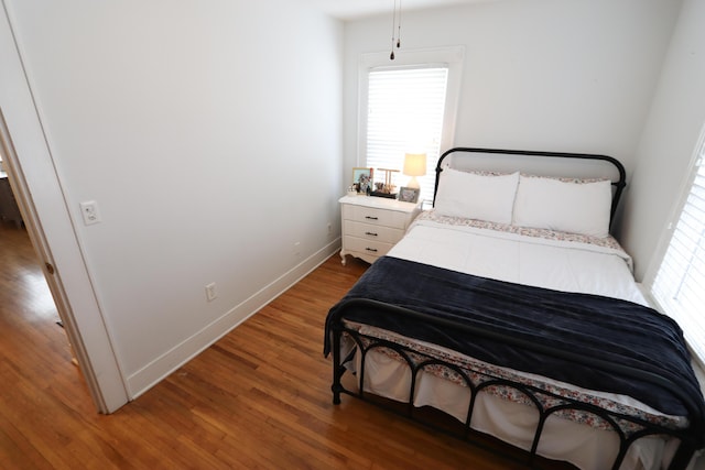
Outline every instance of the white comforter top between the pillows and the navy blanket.
[[[604, 295], [648, 305], [631, 259], [614, 245], [453, 223], [426, 215], [388, 253], [447, 270], [538, 287]], [[614, 242], [616, 244], [616, 242]]]

